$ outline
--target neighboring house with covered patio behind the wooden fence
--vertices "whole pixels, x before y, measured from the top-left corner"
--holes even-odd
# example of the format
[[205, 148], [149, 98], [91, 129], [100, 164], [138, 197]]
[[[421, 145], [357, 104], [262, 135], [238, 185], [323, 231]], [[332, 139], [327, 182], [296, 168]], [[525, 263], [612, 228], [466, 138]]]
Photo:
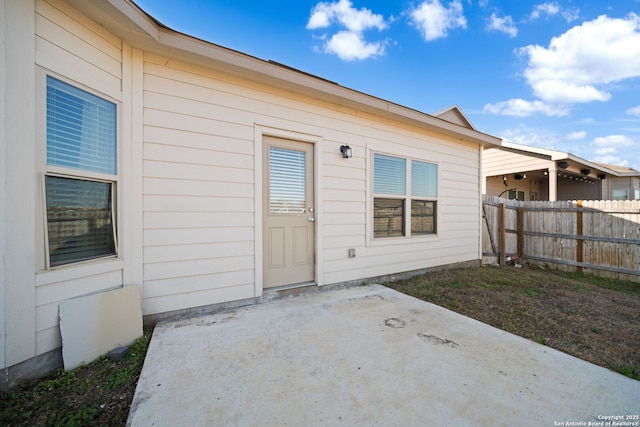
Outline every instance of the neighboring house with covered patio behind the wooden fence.
[[483, 192], [519, 200], [640, 198], [640, 172], [503, 141], [482, 153]]

